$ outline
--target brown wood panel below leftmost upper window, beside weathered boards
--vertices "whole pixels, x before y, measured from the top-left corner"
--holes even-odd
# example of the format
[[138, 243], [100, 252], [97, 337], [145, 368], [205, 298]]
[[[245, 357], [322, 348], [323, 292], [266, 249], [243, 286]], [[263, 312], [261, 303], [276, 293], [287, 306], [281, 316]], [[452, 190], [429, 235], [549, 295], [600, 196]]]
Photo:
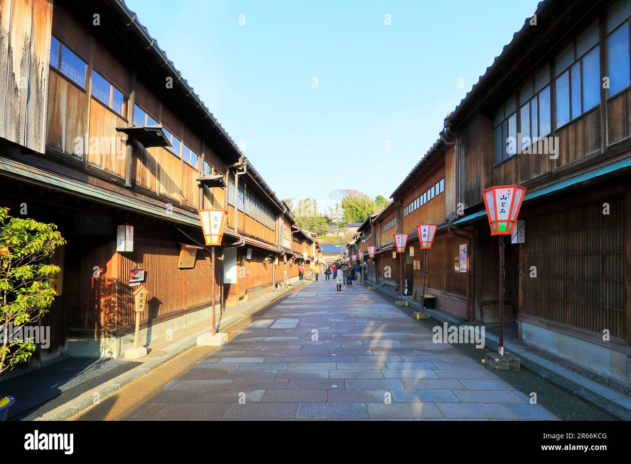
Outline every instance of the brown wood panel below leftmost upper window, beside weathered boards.
[[83, 159], [85, 150], [75, 150], [74, 140], [85, 138], [85, 105], [83, 90], [55, 71], [49, 71], [46, 145]]

